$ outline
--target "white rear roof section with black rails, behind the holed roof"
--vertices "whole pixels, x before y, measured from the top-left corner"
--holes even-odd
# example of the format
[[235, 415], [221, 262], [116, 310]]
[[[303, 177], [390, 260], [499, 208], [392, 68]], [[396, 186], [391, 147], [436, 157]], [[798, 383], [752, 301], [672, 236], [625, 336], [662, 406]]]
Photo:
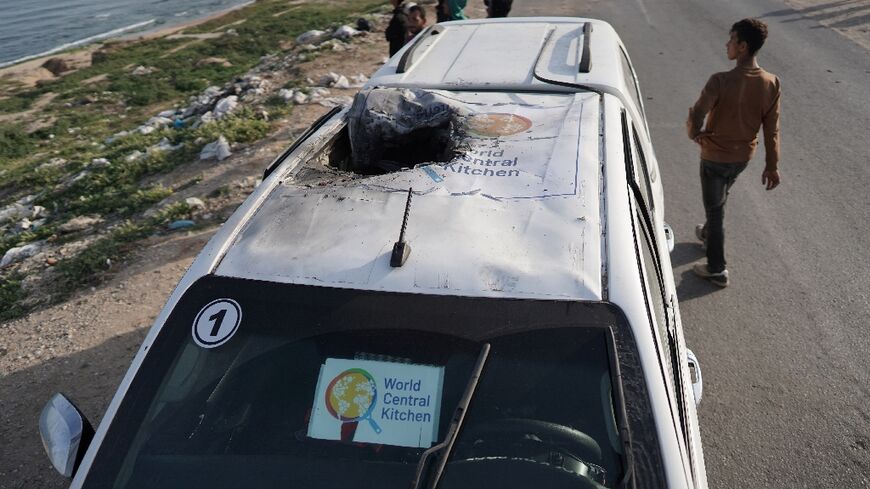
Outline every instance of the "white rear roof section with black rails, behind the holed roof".
[[621, 49], [616, 32], [600, 20], [445, 22], [418, 35], [370, 83], [454, 90], [624, 89], [618, 66]]

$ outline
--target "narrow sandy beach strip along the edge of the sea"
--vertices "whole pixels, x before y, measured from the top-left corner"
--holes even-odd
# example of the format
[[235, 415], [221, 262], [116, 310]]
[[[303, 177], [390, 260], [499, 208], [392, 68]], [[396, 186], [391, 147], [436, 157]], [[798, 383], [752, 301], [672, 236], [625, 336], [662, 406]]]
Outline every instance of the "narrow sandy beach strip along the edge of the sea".
[[[36, 86], [39, 81], [60, 78], [67, 74], [74, 73], [81, 68], [87, 68], [91, 65], [91, 55], [95, 51], [101, 49], [106, 44], [115, 42], [141, 42], [171, 36], [173, 34], [181, 33], [185, 29], [190, 29], [201, 24], [205, 24], [212, 20], [223, 17], [231, 12], [235, 12], [236, 10], [243, 9], [249, 5], [254, 4], [255, 2], [256, 0], [249, 0], [239, 5], [233, 5], [232, 7], [212, 12], [211, 14], [208, 14], [204, 17], [189, 19], [178, 24], [161, 25], [151, 30], [121, 34], [117, 37], [108, 37], [95, 40], [94, 42], [83, 44], [81, 46], [73, 46], [69, 49], [58, 51], [56, 53], [45, 54], [30, 59], [24, 59], [21, 62], [0, 67], [0, 82], [12, 84], [13, 90], [17, 88], [32, 88]], [[70, 70], [55, 76], [53, 73], [43, 68], [42, 65], [52, 58], [59, 58], [64, 60], [70, 66]], [[3, 88], [0, 88], [0, 98], [9, 95], [8, 93], [4, 94], [3, 92], [5, 91], [6, 90], [4, 90]]]

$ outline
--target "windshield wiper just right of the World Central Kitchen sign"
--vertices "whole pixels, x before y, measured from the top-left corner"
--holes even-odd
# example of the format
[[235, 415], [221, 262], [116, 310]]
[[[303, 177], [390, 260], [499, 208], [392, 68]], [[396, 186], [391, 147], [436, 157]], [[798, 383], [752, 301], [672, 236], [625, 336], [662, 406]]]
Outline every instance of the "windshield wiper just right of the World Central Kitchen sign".
[[[450, 420], [450, 426], [447, 427], [444, 441], [428, 448], [420, 456], [420, 462], [417, 463], [417, 473], [414, 475], [414, 480], [411, 481], [411, 489], [429, 488], [438, 485], [441, 474], [444, 472], [444, 467], [447, 465], [447, 459], [450, 457], [450, 451], [453, 450], [453, 444], [456, 442], [456, 436], [459, 434], [459, 428], [462, 427], [462, 422], [465, 420], [468, 405], [471, 403], [475, 389], [477, 389], [477, 383], [480, 380], [481, 373], [483, 373], [483, 366], [486, 365], [489, 348], [489, 343], [484, 343], [480, 354], [477, 356], [477, 363], [474, 365], [474, 370], [471, 371], [471, 377], [465, 386], [465, 393], [462, 394], [462, 398], [453, 412], [453, 418]], [[429, 460], [436, 456], [438, 457], [436, 459], [437, 465], [430, 469]], [[430, 473], [431, 477], [427, 477]]]

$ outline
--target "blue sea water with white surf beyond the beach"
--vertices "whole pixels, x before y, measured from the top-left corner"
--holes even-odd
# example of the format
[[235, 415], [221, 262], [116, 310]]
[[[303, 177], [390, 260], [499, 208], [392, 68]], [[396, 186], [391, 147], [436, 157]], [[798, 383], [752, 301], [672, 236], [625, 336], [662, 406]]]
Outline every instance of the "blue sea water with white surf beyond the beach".
[[0, 0], [0, 67], [252, 0]]

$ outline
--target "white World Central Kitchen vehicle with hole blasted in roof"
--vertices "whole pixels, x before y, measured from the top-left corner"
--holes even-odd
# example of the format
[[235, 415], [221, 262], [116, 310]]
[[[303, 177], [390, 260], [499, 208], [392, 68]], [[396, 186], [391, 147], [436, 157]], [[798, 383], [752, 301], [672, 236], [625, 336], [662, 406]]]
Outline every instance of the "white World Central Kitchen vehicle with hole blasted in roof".
[[[191, 265], [75, 488], [706, 488], [661, 178], [613, 28], [425, 30]], [[694, 379], [694, 380], [693, 380]]]

